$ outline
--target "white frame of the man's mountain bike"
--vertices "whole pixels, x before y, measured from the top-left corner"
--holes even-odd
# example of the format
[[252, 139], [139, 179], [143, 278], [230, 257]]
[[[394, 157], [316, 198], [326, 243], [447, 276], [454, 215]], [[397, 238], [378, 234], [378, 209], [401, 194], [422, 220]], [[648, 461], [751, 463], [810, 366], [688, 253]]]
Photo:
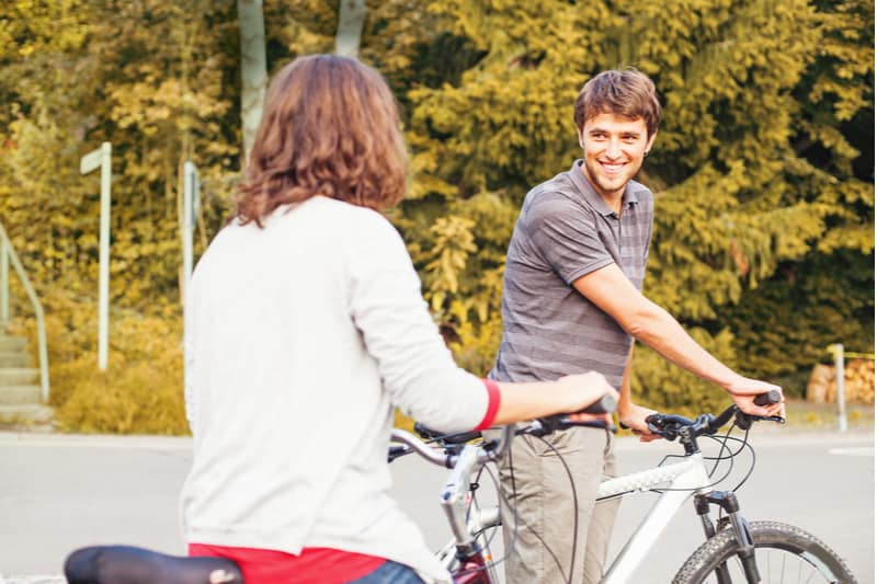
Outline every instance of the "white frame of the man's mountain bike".
[[665, 490], [618, 552], [601, 584], [628, 582], [683, 503], [696, 494], [706, 493], [709, 484], [706, 462], [701, 453], [690, 455], [680, 462], [603, 481], [597, 490], [597, 501], [657, 488]]

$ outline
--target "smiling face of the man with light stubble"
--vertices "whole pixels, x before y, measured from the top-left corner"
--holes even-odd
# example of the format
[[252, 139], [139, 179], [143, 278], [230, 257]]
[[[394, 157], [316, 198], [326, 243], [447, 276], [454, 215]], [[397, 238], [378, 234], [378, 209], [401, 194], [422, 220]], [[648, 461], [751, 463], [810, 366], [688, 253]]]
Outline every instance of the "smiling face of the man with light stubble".
[[641, 117], [600, 114], [586, 119], [579, 133], [585, 179], [604, 199], [619, 198], [653, 141]]

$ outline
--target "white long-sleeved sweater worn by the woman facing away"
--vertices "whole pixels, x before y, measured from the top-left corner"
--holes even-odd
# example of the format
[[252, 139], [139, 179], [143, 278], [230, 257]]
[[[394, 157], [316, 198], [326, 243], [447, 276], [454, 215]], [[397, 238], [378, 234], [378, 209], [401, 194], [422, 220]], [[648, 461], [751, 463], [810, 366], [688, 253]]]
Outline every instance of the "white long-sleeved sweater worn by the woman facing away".
[[223, 229], [192, 278], [185, 344], [187, 541], [334, 548], [447, 581], [389, 495], [391, 404], [460, 431], [488, 398], [380, 214], [317, 196]]

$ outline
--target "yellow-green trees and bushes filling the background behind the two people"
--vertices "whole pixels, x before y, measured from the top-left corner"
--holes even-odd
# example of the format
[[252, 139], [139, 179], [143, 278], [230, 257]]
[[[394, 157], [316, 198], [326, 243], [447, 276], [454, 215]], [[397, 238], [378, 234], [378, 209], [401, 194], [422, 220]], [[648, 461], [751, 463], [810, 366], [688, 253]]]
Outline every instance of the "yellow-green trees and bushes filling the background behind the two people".
[[[664, 106], [639, 176], [657, 194], [646, 294], [722, 360], [793, 394], [829, 343], [873, 352], [873, 0], [365, 5], [358, 56], [389, 80], [411, 151], [390, 219], [465, 366], [491, 365], [524, 195], [580, 154], [578, 90], [626, 66]], [[338, 1], [265, 0], [263, 16], [269, 72], [335, 47]], [[231, 0], [0, 7], [0, 221], [49, 313], [69, 427], [184, 432], [181, 170], [189, 159], [202, 175], [200, 252], [234, 205], [240, 62]], [[111, 359], [98, 375], [99, 190], [78, 161], [103, 140], [115, 178]], [[26, 305], [16, 313], [27, 330]], [[635, 360], [643, 403], [721, 399], [647, 348]]]

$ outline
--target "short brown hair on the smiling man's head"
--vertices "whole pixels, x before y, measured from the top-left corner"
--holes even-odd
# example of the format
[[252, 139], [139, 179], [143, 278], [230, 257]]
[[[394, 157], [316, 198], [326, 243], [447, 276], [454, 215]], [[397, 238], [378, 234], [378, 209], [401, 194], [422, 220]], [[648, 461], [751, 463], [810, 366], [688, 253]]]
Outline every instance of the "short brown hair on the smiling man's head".
[[649, 136], [658, 131], [661, 103], [651, 79], [636, 69], [603, 71], [588, 81], [576, 99], [576, 128], [600, 114], [646, 121]]

